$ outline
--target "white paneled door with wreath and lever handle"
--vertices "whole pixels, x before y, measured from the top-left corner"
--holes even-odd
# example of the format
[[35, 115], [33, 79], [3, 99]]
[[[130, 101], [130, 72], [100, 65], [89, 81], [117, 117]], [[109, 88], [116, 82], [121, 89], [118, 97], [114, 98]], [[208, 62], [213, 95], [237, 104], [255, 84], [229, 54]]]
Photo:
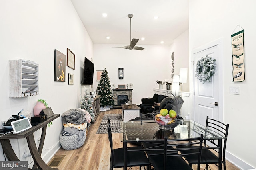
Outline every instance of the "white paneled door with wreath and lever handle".
[[[222, 121], [222, 86], [220, 86], [220, 81], [222, 83], [220, 63], [222, 62], [219, 46], [220, 44], [215, 42], [192, 52], [194, 58], [194, 120], [202, 125], [206, 124], [206, 116]], [[202, 84], [195, 77], [195, 68], [198, 59], [206, 55], [216, 59], [216, 69], [212, 81]]]

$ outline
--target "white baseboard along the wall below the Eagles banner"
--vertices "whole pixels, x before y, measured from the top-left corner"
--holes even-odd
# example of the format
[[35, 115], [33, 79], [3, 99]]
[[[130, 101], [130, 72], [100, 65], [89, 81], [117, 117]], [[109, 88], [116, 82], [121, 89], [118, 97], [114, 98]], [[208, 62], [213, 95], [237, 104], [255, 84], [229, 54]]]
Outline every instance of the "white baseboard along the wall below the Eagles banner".
[[227, 151], [226, 151], [226, 160], [228, 160], [229, 162], [231, 162], [233, 165], [240, 168], [241, 170], [255, 169], [254, 167], [250, 166], [246, 162], [240, 160], [239, 158], [237, 158], [236, 156], [234, 156], [233, 154]]

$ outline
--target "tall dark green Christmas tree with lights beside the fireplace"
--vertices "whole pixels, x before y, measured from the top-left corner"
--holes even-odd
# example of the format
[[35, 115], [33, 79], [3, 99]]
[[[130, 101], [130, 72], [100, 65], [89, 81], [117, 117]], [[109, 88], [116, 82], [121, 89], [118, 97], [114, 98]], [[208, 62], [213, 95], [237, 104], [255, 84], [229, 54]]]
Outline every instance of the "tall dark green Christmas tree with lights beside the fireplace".
[[97, 90], [98, 94], [100, 95], [100, 103], [103, 105], [103, 107], [107, 105], [114, 106], [112, 89], [106, 68], [103, 70], [100, 76], [100, 82], [98, 83]]

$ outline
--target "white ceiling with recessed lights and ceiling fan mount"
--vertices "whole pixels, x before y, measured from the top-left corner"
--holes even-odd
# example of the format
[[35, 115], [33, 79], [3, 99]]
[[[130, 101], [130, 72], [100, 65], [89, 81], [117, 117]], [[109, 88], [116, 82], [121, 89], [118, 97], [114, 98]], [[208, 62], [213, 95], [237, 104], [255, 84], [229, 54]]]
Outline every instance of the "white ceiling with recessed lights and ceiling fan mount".
[[[93, 43], [170, 45], [188, 29], [188, 0], [71, 0]], [[107, 17], [103, 17], [106, 13]], [[158, 16], [158, 19], [154, 17]], [[109, 37], [107, 39], [106, 37]], [[141, 38], [145, 39], [142, 41]], [[164, 43], [161, 43], [163, 41]]]

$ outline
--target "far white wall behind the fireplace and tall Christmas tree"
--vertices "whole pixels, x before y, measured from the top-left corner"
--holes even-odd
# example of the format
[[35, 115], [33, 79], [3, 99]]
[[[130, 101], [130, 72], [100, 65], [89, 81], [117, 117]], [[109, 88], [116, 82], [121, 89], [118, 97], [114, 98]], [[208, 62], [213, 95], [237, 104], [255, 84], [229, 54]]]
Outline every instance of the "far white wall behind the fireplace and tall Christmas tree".
[[[124, 45], [94, 44], [94, 70], [106, 68], [110, 83], [116, 88], [118, 84], [132, 83], [132, 103], [141, 104], [141, 98], [153, 97], [153, 88], [159, 88], [156, 80], [171, 78], [170, 45], [140, 45], [145, 48], [143, 51], [112, 48], [121, 46]], [[118, 68], [124, 68], [124, 79], [118, 79]], [[97, 85], [94, 78], [94, 89]]]

